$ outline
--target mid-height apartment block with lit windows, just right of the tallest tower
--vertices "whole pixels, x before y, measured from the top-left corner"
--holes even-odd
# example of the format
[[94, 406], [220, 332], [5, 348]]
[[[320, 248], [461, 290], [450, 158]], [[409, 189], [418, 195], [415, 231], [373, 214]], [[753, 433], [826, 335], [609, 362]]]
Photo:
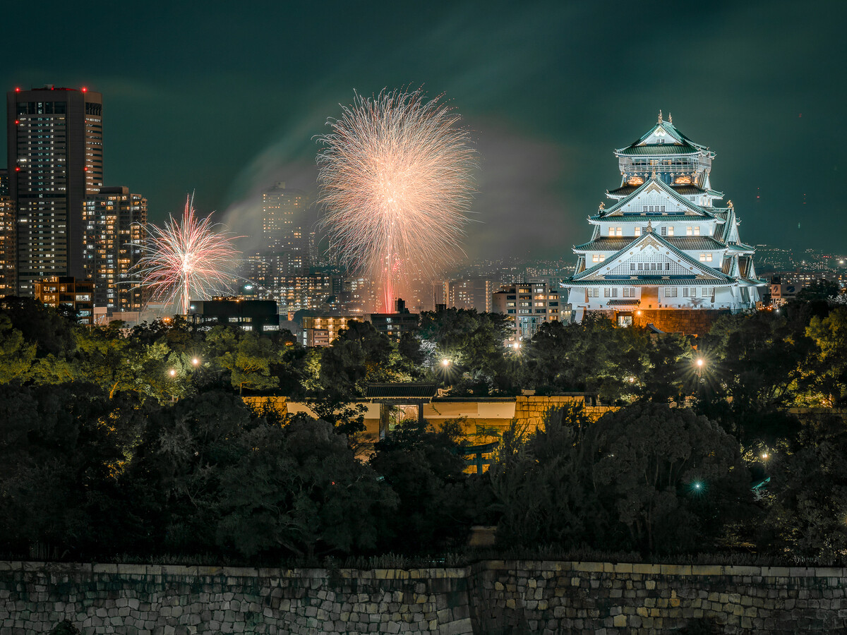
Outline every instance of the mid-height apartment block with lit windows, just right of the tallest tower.
[[109, 312], [141, 311], [146, 298], [130, 269], [147, 237], [147, 199], [128, 187], [102, 187], [82, 211], [83, 271], [94, 283], [94, 304]]

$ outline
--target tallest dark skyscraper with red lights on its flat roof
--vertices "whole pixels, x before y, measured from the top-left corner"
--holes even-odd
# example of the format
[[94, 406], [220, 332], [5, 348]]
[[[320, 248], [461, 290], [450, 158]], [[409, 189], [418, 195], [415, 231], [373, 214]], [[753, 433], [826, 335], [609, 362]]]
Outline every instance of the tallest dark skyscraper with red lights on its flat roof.
[[102, 187], [102, 95], [44, 86], [7, 93], [9, 196], [17, 214], [17, 290], [85, 275], [83, 202]]

